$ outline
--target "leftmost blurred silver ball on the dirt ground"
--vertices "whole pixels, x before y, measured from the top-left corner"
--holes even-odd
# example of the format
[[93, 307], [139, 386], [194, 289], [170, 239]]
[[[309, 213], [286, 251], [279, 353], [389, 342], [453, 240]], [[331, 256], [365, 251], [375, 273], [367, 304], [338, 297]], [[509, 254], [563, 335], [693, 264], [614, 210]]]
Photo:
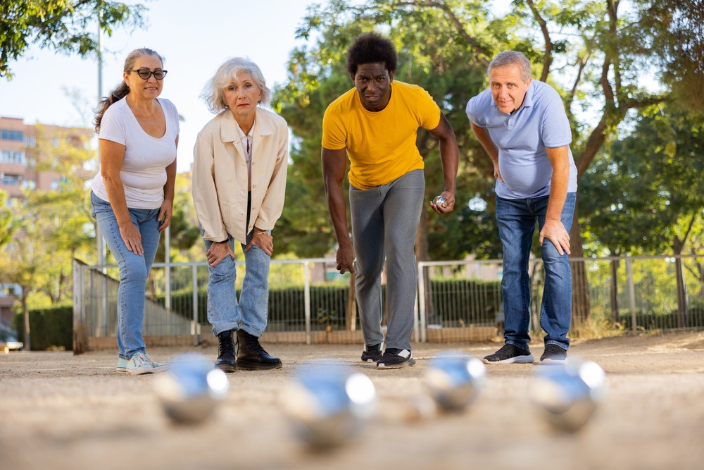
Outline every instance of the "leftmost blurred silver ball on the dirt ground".
[[230, 382], [203, 354], [181, 354], [171, 368], [154, 379], [154, 391], [175, 423], [205, 421], [227, 395]]

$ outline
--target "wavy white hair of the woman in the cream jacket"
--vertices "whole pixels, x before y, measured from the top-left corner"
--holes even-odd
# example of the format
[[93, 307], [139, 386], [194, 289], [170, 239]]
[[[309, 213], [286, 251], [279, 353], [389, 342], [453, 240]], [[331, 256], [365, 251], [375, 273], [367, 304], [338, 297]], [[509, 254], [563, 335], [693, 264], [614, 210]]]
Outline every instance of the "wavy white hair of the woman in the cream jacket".
[[227, 108], [225, 104], [225, 88], [237, 79], [237, 74], [240, 72], [249, 73], [254, 83], [259, 88], [262, 94], [258, 104], [267, 105], [271, 99], [271, 90], [267, 88], [264, 80], [264, 75], [256, 63], [253, 63], [249, 58], [232, 57], [228, 58], [223, 63], [218, 71], [215, 72], [213, 78], [208, 80], [206, 86], [201, 92], [201, 99], [206, 101], [208, 110], [211, 113], [219, 113]]

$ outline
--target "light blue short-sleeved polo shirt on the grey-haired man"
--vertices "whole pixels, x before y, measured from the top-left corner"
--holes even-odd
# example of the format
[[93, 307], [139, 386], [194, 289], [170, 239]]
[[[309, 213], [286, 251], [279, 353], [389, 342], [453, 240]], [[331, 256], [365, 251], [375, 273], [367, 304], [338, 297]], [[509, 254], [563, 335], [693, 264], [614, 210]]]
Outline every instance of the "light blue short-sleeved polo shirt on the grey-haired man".
[[577, 167], [569, 144], [570, 121], [558, 92], [550, 85], [532, 80], [517, 111], [498, 111], [486, 89], [467, 103], [467, 117], [489, 131], [498, 147], [498, 168], [503, 183], [496, 180], [496, 195], [504, 199], [527, 199], [550, 194], [553, 167], [546, 147], [567, 145], [570, 181], [567, 192], [577, 191]]

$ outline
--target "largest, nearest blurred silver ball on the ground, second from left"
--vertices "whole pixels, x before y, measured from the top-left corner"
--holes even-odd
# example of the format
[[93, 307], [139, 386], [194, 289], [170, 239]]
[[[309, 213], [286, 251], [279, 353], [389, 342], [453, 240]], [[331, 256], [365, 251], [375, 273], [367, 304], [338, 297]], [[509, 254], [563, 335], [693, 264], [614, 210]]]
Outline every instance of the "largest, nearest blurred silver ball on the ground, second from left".
[[363, 373], [344, 364], [303, 364], [282, 393], [294, 433], [313, 450], [358, 438], [375, 412], [377, 393]]

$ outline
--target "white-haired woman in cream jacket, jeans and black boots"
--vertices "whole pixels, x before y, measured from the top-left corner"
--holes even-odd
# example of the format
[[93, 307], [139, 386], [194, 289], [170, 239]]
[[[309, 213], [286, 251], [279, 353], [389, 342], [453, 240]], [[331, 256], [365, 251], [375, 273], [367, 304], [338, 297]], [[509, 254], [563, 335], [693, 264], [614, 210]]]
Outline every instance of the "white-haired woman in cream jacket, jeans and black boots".
[[[260, 345], [267, 325], [272, 229], [284, 207], [289, 131], [284, 118], [259, 105], [271, 92], [256, 63], [230, 58], [203, 89], [217, 113], [194, 148], [193, 201], [208, 259], [208, 321], [226, 372], [275, 369], [281, 360]], [[244, 252], [237, 299], [234, 241]], [[234, 335], [239, 350], [234, 350]]]

